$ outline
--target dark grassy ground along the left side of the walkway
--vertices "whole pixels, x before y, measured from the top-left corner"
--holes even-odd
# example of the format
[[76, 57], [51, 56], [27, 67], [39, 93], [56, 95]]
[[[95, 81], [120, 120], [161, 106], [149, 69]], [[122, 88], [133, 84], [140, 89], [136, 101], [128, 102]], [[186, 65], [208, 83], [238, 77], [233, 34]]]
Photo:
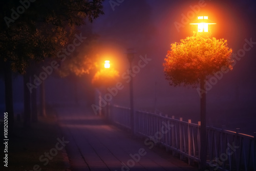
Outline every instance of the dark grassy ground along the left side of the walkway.
[[[39, 161], [41, 155], [55, 147], [57, 138], [62, 139], [54, 116], [38, 118], [38, 122], [32, 123], [31, 129], [24, 129], [22, 122], [15, 121], [14, 124], [14, 133], [8, 143], [8, 167], [4, 170], [65, 170], [61, 151], [48, 164]], [[39, 165], [39, 168], [35, 165]]]

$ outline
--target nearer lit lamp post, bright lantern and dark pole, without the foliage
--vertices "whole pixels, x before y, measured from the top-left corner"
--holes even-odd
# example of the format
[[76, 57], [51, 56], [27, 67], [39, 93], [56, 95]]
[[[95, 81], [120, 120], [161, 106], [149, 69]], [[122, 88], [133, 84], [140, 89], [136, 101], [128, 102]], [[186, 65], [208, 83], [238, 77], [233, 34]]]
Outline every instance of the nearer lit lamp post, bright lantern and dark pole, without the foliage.
[[[208, 20], [208, 16], [198, 16], [195, 23], [190, 25], [198, 25], [198, 32], [208, 32], [208, 25], [215, 25], [216, 23]], [[207, 159], [207, 135], [206, 135], [206, 93], [202, 93], [205, 89], [205, 76], [200, 78], [200, 168], [201, 170], [206, 169], [206, 159]]]

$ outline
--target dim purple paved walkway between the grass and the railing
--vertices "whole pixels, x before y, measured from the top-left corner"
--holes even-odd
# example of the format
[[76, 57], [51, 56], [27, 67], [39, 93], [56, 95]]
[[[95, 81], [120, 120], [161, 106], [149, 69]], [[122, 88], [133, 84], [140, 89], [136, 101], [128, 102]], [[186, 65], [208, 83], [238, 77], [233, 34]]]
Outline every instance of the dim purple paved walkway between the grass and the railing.
[[144, 140], [133, 138], [89, 110], [57, 111], [72, 171], [197, 170], [158, 147], [149, 149]]

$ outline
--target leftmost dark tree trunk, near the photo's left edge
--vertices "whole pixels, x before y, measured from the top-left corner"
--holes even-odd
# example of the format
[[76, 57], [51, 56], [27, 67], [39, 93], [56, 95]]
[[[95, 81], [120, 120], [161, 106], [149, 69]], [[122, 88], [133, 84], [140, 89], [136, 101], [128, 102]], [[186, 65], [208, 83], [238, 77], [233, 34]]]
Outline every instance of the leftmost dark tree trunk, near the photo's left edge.
[[13, 97], [12, 97], [12, 71], [10, 63], [5, 63], [5, 108], [8, 113], [8, 129], [13, 131], [14, 113], [13, 113]]

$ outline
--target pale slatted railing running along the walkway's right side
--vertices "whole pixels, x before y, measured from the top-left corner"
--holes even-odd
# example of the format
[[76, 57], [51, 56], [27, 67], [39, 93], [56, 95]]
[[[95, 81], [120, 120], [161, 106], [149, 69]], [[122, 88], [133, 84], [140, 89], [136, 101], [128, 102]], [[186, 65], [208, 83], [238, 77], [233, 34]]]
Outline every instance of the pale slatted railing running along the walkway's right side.
[[[130, 109], [111, 106], [109, 119], [130, 129]], [[200, 122], [198, 124], [160, 116], [148, 112], [136, 111], [136, 135], [150, 138], [179, 155], [187, 158], [188, 163], [199, 162], [200, 158]], [[207, 164], [210, 170], [253, 170], [256, 171], [256, 134], [246, 134], [207, 127]]]

